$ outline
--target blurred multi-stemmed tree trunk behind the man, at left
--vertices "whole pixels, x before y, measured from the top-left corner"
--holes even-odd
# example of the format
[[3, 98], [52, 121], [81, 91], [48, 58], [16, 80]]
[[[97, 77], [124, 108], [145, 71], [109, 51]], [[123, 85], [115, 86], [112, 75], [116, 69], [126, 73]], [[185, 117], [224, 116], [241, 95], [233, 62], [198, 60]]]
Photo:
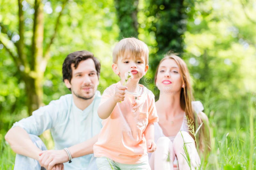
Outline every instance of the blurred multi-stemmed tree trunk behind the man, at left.
[[5, 50], [12, 57], [15, 65], [18, 67], [18, 72], [21, 75], [21, 79], [25, 82], [27, 92], [27, 106], [28, 114], [38, 109], [42, 103], [43, 97], [43, 78], [44, 71], [48, 60], [50, 59], [50, 47], [56, 36], [57, 29], [60, 23], [60, 17], [63, 13], [63, 9], [67, 4], [68, 0], [64, 0], [62, 8], [57, 17], [55, 27], [53, 26], [54, 32], [50, 38], [50, 42], [46, 45], [45, 52], [43, 48], [44, 40], [44, 4], [42, 0], [35, 0], [34, 3], [34, 25], [33, 25], [33, 37], [31, 46], [25, 45], [25, 25], [26, 20], [24, 11], [22, 10], [23, 0], [18, 0], [18, 15], [19, 15], [19, 36], [20, 39], [17, 42], [12, 42], [13, 31], [8, 28], [8, 25], [0, 22], [1, 33], [5, 34], [9, 40], [8, 43], [16, 48], [10, 49], [7, 41], [0, 36], [0, 44], [4, 45]]

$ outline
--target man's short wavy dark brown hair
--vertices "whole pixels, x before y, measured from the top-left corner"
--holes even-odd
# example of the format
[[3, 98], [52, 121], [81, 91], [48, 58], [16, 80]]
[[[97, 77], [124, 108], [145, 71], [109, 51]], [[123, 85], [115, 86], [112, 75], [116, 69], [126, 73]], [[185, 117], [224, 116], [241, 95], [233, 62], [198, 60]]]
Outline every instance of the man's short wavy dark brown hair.
[[65, 58], [63, 65], [62, 65], [62, 75], [63, 75], [63, 81], [65, 79], [68, 79], [70, 82], [72, 79], [72, 68], [71, 65], [74, 64], [74, 67], [78, 66], [78, 64], [87, 59], [92, 59], [97, 71], [98, 78], [100, 77], [100, 61], [94, 57], [93, 53], [89, 51], [76, 51], [74, 53], [68, 54], [68, 56]]

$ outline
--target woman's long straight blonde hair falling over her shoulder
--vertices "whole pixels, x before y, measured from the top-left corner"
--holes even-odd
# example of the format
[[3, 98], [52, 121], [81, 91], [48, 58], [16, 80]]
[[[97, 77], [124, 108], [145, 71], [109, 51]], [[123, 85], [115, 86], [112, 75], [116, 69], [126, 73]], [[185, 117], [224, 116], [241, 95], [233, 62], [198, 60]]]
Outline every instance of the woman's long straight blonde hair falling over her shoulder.
[[[194, 110], [192, 109], [191, 102], [194, 101], [194, 96], [193, 96], [193, 89], [192, 89], [191, 82], [190, 82], [190, 75], [189, 75], [187, 64], [184, 62], [184, 60], [182, 60], [177, 55], [178, 55], [177, 53], [169, 52], [159, 62], [158, 66], [156, 68], [155, 83], [156, 83], [156, 76], [158, 73], [159, 65], [166, 59], [175, 60], [180, 69], [182, 84], [185, 85], [184, 88], [181, 88], [181, 92], [180, 92], [180, 107], [182, 108], [182, 110], [185, 111], [186, 117], [188, 117], [188, 119], [193, 121], [194, 129], [196, 131], [198, 126], [202, 123], [202, 120], [199, 116], [197, 116], [197, 114], [195, 114]], [[203, 124], [199, 130], [199, 143], [198, 143], [199, 151], [201, 153], [204, 153], [205, 147], [207, 147], [207, 146], [205, 146], [205, 142], [204, 142], [204, 140], [205, 140], [204, 131], [205, 131], [205, 126]], [[195, 140], [194, 136], [191, 133], [189, 133], [189, 134]]]

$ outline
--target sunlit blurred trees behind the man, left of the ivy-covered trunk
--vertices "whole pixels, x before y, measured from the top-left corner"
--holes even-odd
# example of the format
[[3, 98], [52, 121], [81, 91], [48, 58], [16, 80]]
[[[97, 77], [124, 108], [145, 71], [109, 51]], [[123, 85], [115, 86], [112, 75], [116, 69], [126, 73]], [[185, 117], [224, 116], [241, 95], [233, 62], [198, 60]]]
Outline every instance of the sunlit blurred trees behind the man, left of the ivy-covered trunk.
[[27, 117], [69, 93], [61, 80], [68, 53], [86, 49], [100, 59], [111, 56], [118, 26], [112, 1], [13, 0], [0, 1], [0, 8], [0, 129], [6, 131], [10, 117]]

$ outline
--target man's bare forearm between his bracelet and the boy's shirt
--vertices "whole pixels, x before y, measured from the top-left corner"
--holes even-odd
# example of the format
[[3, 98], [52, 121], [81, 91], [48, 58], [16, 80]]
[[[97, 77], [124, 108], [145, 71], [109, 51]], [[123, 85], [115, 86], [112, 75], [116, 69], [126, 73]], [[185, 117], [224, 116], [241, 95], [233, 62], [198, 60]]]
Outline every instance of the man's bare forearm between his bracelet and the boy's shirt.
[[93, 153], [93, 145], [97, 142], [98, 135], [95, 135], [91, 139], [84, 141], [83, 143], [73, 145], [68, 148], [72, 158], [77, 158], [87, 154]]

